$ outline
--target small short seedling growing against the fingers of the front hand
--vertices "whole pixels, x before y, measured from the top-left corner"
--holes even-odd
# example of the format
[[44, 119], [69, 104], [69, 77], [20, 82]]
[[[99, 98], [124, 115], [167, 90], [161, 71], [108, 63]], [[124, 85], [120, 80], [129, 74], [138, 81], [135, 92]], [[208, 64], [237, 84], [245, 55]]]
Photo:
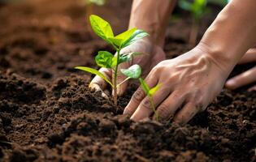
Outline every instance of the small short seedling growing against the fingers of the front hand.
[[161, 87], [161, 84], [157, 84], [155, 87], [150, 88], [149, 85], [147, 83], [145, 83], [144, 79], [140, 78], [139, 80], [140, 80], [141, 87], [142, 87], [143, 91], [145, 92], [146, 96], [148, 96], [148, 98], [150, 100], [150, 107], [154, 112], [154, 116], [156, 117], [156, 120], [158, 121], [158, 113], [154, 107], [153, 96], [158, 91], [158, 89]]

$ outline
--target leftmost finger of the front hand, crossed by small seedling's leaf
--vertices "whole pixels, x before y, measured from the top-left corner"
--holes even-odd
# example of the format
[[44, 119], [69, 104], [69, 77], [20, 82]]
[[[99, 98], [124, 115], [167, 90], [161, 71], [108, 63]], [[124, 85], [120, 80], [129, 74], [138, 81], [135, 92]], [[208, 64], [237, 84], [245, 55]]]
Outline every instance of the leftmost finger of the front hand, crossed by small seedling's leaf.
[[[152, 77], [151, 77], [152, 76]], [[153, 75], [148, 75], [145, 79], [145, 83], [149, 85], [149, 87], [154, 87], [158, 83], [157, 77]], [[124, 109], [124, 114], [132, 115], [137, 109], [138, 105], [141, 103], [141, 100], [145, 98], [145, 92], [141, 87], [137, 89], [136, 92], [132, 95], [132, 99], [128, 103], [128, 105]]]

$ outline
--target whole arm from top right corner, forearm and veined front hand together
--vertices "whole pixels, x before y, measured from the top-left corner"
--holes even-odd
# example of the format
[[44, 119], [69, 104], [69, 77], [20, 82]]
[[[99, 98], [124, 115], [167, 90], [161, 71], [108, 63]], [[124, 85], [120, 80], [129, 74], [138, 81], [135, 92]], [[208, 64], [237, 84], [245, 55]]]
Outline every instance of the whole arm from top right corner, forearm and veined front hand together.
[[[255, 0], [232, 0], [194, 49], [154, 66], [145, 82], [150, 87], [162, 84], [153, 96], [161, 120], [189, 122], [215, 99], [233, 67], [256, 42], [255, 8]], [[150, 117], [149, 103], [140, 87], [124, 113], [135, 121]]]

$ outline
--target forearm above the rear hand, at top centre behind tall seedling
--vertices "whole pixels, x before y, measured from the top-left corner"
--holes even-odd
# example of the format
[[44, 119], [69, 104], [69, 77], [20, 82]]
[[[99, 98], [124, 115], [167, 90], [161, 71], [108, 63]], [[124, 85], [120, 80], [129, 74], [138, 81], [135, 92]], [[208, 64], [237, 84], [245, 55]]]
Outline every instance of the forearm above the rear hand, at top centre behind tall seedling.
[[129, 28], [148, 32], [152, 42], [163, 47], [164, 37], [176, 0], [133, 0]]

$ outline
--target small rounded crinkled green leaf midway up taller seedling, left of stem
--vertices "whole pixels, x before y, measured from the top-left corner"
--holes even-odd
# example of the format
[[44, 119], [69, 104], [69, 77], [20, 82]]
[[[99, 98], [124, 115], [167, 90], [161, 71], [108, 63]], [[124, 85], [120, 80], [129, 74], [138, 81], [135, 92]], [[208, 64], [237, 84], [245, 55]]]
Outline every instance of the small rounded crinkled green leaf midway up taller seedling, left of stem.
[[113, 54], [107, 51], [99, 51], [98, 55], [95, 57], [95, 62], [98, 66], [111, 68], [112, 66]]

